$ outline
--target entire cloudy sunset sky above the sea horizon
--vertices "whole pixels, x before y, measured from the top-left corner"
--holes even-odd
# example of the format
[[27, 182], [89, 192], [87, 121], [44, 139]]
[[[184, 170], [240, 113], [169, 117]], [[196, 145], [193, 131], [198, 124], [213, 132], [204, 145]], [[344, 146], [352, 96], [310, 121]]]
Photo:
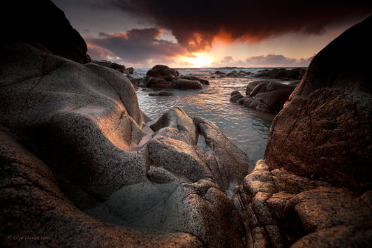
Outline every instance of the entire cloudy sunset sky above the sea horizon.
[[372, 1], [52, 0], [92, 59], [126, 67], [306, 67]]

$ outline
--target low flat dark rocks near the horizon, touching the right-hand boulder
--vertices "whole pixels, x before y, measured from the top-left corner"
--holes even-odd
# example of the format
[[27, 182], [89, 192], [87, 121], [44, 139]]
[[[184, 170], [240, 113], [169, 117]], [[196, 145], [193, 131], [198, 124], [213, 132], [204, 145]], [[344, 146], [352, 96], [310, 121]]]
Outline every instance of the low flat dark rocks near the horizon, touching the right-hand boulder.
[[275, 78], [281, 80], [301, 80], [306, 72], [305, 68], [285, 69], [273, 68], [255, 73], [255, 78]]

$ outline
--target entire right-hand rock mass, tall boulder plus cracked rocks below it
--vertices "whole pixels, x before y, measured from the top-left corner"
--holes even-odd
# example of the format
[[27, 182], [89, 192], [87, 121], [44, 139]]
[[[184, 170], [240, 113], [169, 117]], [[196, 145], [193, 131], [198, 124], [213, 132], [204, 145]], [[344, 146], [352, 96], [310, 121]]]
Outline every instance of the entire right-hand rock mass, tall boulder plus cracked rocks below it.
[[371, 28], [320, 51], [274, 119], [239, 187], [248, 247], [371, 247]]

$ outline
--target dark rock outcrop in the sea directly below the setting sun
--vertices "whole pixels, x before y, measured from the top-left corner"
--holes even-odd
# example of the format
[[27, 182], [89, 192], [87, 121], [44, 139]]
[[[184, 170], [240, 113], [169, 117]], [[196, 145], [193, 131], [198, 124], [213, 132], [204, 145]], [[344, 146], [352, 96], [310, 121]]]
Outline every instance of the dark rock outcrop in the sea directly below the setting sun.
[[147, 71], [140, 85], [158, 89], [202, 89], [209, 85], [208, 80], [195, 76], [180, 76], [179, 72], [168, 66], [156, 65]]

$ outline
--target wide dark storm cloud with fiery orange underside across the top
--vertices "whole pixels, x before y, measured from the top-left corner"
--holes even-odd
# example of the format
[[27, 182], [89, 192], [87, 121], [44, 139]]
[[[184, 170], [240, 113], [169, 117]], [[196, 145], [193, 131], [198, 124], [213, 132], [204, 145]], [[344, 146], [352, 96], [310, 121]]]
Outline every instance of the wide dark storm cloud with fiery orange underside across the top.
[[178, 43], [191, 52], [208, 50], [216, 36], [230, 41], [261, 41], [288, 32], [322, 34], [328, 24], [372, 13], [370, 0], [105, 0], [105, 3], [170, 29]]

